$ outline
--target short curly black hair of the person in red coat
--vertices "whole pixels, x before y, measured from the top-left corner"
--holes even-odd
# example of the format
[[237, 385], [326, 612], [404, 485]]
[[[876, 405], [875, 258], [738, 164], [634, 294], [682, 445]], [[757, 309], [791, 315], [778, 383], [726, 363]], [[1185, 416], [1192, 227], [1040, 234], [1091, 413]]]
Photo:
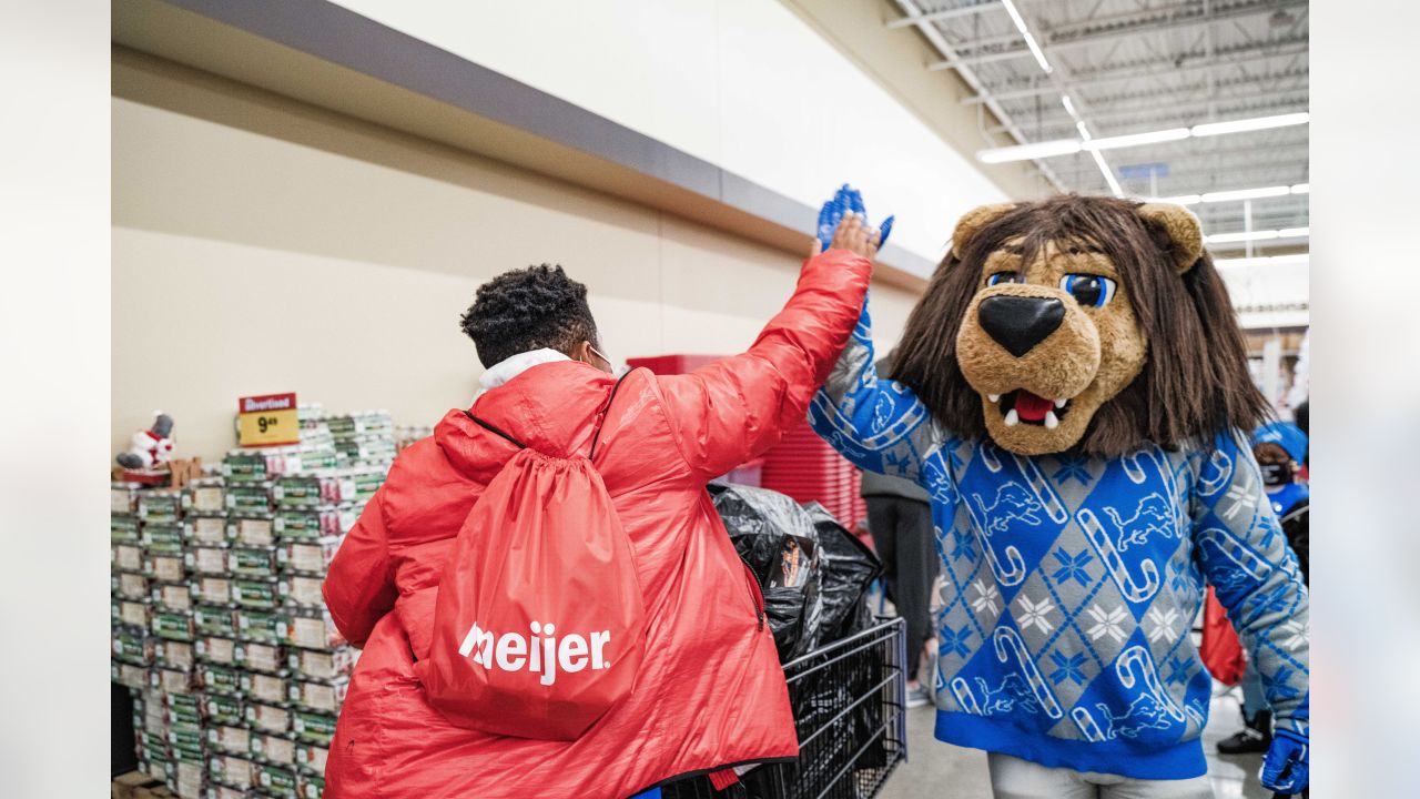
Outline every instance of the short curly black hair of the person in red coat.
[[545, 263], [504, 272], [479, 286], [459, 321], [484, 368], [528, 350], [571, 354], [582, 341], [598, 343], [586, 286]]

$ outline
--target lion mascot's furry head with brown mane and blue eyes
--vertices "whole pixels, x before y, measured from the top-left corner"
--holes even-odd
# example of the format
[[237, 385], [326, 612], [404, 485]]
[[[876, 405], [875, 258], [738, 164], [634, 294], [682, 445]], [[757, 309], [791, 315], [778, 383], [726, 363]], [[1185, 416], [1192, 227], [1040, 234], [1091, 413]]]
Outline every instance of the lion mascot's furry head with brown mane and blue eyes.
[[1020, 455], [1172, 448], [1268, 412], [1198, 219], [1115, 198], [963, 216], [892, 377]]

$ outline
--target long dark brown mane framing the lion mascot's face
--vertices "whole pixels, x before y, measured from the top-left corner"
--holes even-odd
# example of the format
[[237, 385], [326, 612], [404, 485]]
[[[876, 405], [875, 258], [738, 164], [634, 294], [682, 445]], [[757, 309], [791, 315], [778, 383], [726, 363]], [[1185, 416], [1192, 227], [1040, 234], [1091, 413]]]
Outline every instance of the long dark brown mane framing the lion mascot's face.
[[[1149, 343], [1143, 371], [1091, 421], [1078, 449], [1118, 456], [1146, 442], [1174, 448], [1251, 431], [1268, 417], [1247, 371], [1247, 350], [1223, 277], [1207, 252], [1181, 276], [1167, 230], [1136, 213], [1140, 203], [1059, 195], [993, 219], [937, 266], [913, 309], [892, 377], [916, 391], [947, 431], [987, 436], [981, 395], [957, 365], [957, 330], [980, 289], [987, 256], [1020, 240], [1028, 262], [1047, 242], [1103, 252], [1116, 266]], [[956, 247], [953, 249], [956, 250]]]

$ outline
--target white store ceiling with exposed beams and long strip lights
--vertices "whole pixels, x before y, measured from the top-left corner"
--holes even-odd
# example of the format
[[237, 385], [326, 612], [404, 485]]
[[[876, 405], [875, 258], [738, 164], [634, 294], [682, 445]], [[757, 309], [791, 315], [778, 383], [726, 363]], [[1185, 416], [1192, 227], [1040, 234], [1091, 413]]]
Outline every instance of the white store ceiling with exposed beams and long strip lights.
[[[890, 0], [974, 94], [981, 146], [1190, 128], [1308, 108], [1306, 0]], [[1012, 7], [1017, 14], [1012, 14]], [[890, 16], [890, 14], [889, 14]], [[1020, 21], [1039, 45], [1032, 53]], [[1042, 61], [1049, 65], [1047, 73]], [[1062, 100], [1068, 97], [1071, 109]], [[1072, 114], [1074, 111], [1074, 114]], [[1308, 182], [1308, 125], [1039, 158], [1059, 191], [1176, 198]], [[1308, 195], [1193, 205], [1208, 235], [1308, 226]], [[1305, 247], [1305, 237], [1254, 250]], [[1237, 250], [1245, 245], [1218, 243]], [[1257, 254], [1255, 253], [1255, 254]], [[1237, 253], [1242, 254], [1242, 253]]]

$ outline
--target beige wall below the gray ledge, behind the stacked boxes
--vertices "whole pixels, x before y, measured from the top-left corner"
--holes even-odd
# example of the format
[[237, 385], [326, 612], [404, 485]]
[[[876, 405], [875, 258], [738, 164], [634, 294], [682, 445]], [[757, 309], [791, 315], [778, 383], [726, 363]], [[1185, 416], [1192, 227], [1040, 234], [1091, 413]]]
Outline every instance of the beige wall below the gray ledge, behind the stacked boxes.
[[[180, 454], [217, 458], [236, 398], [275, 391], [432, 424], [481, 371], [460, 311], [528, 263], [588, 284], [618, 358], [743, 350], [797, 276], [791, 253], [236, 84], [114, 80], [115, 451], [160, 408]], [[913, 301], [875, 286], [885, 343]]]

